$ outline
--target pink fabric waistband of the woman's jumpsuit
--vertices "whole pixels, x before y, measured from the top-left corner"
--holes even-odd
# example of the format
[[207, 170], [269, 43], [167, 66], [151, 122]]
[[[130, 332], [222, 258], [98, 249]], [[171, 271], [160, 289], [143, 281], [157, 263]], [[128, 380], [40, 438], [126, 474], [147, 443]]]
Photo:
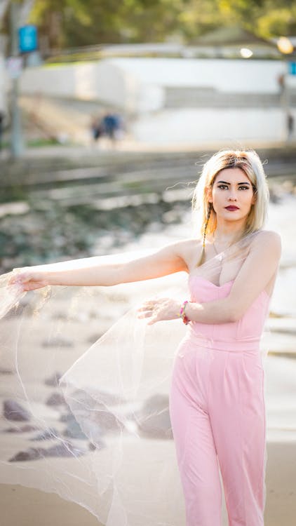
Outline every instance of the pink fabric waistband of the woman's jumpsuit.
[[231, 351], [241, 353], [243, 351], [258, 352], [260, 350], [260, 338], [235, 339], [222, 341], [206, 337], [201, 333], [196, 333], [191, 328], [188, 329], [185, 339], [201, 347], [215, 349], [217, 351]]

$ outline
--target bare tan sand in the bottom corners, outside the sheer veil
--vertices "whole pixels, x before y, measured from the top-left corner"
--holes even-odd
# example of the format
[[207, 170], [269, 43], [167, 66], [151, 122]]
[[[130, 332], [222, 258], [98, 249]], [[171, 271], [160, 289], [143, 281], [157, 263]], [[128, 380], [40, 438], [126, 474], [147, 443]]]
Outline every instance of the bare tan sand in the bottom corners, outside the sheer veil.
[[[296, 443], [267, 445], [265, 526], [294, 526], [296, 517]], [[100, 526], [78, 504], [19, 485], [0, 485], [1, 526]], [[227, 525], [225, 508], [223, 526]], [[184, 523], [180, 523], [184, 526]]]

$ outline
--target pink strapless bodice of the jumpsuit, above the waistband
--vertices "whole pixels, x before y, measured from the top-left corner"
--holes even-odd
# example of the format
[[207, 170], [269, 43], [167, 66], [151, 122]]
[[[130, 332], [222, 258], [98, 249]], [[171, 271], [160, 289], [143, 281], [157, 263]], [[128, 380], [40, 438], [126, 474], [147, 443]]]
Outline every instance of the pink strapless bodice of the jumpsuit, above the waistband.
[[[227, 297], [234, 281], [224, 285], [215, 285], [201, 276], [189, 275], [189, 290], [191, 302], [206, 303], [215, 299]], [[229, 323], [189, 323], [189, 335], [208, 340], [210, 346], [217, 348], [229, 347], [229, 344], [242, 348], [259, 346], [264, 321], [269, 308], [269, 295], [264, 290], [260, 292], [255, 301], [250, 305], [243, 317]]]

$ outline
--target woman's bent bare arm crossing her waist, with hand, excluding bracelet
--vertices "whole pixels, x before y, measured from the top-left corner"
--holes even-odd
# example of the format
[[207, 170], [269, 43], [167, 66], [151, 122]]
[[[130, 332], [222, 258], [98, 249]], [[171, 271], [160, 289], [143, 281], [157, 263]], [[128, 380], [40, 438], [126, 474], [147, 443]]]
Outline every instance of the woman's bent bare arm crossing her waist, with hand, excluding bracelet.
[[[190, 321], [201, 323], [228, 323], [241, 319], [245, 311], [266, 288], [276, 273], [281, 257], [281, 238], [276, 232], [263, 231], [256, 236], [248, 257], [231, 287], [229, 295], [213, 302], [189, 302], [186, 315]], [[180, 303], [163, 298], [146, 302], [140, 318], [151, 317], [149, 325], [161, 320], [177, 318]]]

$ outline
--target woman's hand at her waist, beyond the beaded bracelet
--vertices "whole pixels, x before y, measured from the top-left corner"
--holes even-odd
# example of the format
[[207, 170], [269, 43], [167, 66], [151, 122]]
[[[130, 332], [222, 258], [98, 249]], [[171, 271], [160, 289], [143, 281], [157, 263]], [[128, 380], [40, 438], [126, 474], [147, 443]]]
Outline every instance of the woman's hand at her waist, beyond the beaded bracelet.
[[149, 299], [137, 309], [137, 318], [151, 318], [147, 325], [153, 325], [156, 321], [175, 320], [179, 318], [181, 303], [175, 299], [165, 297]]

